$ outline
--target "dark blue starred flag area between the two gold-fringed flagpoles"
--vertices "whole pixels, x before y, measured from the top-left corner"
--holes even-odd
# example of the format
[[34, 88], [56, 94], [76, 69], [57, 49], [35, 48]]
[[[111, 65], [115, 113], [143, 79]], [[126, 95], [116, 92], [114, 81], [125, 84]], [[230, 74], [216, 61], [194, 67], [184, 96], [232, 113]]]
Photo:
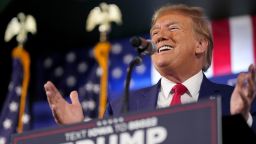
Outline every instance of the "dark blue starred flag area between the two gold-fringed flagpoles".
[[93, 58], [92, 50], [74, 49], [65, 55], [49, 54], [41, 57], [37, 66], [38, 97], [46, 97], [43, 85], [50, 80], [68, 101], [70, 92], [77, 90], [84, 113], [91, 118], [97, 117], [102, 72]]

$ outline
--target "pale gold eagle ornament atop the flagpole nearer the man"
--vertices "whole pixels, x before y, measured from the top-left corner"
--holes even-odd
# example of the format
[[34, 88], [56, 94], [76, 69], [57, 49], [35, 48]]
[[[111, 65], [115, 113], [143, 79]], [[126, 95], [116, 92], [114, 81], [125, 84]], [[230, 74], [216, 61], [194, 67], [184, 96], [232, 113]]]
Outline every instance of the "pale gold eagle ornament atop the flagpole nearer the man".
[[100, 41], [107, 41], [107, 34], [111, 31], [111, 22], [122, 24], [122, 14], [115, 4], [100, 3], [93, 8], [86, 21], [86, 31], [92, 31], [99, 25]]

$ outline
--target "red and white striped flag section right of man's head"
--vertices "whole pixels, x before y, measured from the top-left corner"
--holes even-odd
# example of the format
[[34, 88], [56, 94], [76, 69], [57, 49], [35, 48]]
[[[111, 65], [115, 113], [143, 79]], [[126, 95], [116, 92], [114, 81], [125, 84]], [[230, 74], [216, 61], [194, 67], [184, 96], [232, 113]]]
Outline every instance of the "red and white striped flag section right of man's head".
[[242, 15], [212, 21], [213, 64], [208, 76], [247, 71], [256, 61], [256, 16]]

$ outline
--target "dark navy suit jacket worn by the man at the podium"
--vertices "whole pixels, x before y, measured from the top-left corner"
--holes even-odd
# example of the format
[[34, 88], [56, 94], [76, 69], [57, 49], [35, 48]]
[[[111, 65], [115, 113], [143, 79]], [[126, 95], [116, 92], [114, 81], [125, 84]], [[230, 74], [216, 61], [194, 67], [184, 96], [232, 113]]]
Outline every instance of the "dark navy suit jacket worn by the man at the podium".
[[[230, 115], [230, 98], [234, 87], [216, 84], [209, 81], [205, 75], [199, 91], [198, 101], [209, 99], [210, 97], [221, 97], [222, 115]], [[139, 112], [145, 110], [154, 110], [157, 107], [157, 97], [160, 91], [160, 81], [151, 87], [133, 91], [129, 95], [129, 112]], [[105, 112], [107, 116], [118, 116], [122, 113], [123, 98], [108, 100], [108, 106]], [[253, 116], [253, 130], [256, 132], [256, 103], [252, 106], [251, 114]]]

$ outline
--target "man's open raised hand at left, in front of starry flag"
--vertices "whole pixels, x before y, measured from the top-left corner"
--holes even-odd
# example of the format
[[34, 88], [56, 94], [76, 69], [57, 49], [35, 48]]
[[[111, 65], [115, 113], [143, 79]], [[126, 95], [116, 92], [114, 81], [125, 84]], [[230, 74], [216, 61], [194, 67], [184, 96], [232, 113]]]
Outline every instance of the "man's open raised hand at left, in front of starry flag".
[[83, 110], [78, 99], [77, 91], [72, 91], [70, 93], [70, 104], [63, 98], [52, 82], [48, 81], [44, 85], [44, 89], [53, 117], [58, 124], [72, 124], [84, 120]]

